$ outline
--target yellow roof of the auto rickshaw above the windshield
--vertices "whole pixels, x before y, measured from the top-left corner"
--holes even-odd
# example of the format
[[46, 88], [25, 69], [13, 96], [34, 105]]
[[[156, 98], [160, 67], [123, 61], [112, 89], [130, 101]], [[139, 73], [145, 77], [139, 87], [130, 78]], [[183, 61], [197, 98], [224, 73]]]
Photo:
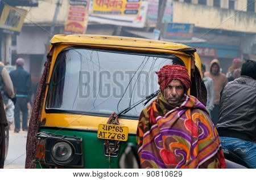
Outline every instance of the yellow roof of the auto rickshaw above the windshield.
[[104, 35], [55, 35], [51, 44], [66, 43], [77, 45], [105, 45], [105, 46], [126, 46], [133, 48], [151, 48], [164, 50], [179, 50], [188, 54], [196, 52], [195, 48], [183, 44], [167, 41], [150, 40], [146, 38], [104, 36]]

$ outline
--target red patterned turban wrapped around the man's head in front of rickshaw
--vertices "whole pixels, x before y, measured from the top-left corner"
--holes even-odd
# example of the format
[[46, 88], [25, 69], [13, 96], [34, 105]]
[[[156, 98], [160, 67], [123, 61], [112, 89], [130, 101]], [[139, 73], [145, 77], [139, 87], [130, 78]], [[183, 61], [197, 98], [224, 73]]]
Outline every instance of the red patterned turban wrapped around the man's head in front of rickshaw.
[[165, 65], [158, 72], [158, 84], [160, 85], [160, 91], [163, 92], [164, 88], [171, 83], [173, 79], [180, 80], [184, 85], [186, 91], [191, 86], [191, 80], [188, 75], [188, 70], [184, 66], [180, 65]]

